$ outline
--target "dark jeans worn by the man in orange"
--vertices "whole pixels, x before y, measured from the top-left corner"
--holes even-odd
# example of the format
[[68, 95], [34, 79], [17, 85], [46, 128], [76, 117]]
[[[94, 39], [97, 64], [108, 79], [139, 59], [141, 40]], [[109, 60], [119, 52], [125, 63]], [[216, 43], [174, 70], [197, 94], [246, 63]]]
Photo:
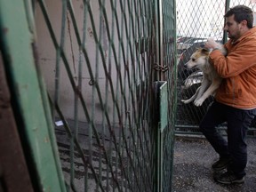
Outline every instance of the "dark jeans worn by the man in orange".
[[[232, 108], [214, 101], [200, 124], [201, 132], [220, 157], [231, 157], [232, 164], [228, 168], [237, 177], [245, 175], [244, 168], [247, 164], [245, 137], [255, 115], [256, 109]], [[225, 140], [216, 129], [216, 125], [224, 122], [228, 123], [228, 140]]]

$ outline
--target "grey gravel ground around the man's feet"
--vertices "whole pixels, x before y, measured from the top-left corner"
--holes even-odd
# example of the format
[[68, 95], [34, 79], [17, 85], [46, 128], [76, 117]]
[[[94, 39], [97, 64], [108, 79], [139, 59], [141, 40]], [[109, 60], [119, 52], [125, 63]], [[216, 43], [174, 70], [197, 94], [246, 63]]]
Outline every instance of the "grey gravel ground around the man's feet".
[[248, 164], [244, 184], [221, 185], [212, 176], [211, 165], [218, 155], [203, 138], [176, 137], [172, 192], [256, 191], [256, 139], [247, 139]]

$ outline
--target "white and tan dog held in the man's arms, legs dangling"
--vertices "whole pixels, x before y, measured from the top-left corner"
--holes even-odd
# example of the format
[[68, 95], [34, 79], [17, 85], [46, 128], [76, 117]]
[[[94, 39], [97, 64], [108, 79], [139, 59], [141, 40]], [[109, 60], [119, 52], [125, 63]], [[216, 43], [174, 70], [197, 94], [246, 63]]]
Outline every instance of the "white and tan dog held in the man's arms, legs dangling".
[[[227, 54], [223, 45], [219, 44], [220, 52], [223, 55]], [[181, 100], [183, 103], [188, 104], [194, 100], [196, 107], [203, 104], [210, 95], [214, 95], [221, 83], [221, 77], [217, 74], [212, 64], [208, 62], [210, 51], [208, 49], [199, 48], [194, 52], [190, 60], [184, 65], [185, 68], [198, 68], [203, 71], [203, 80], [200, 87], [197, 88], [196, 93], [188, 100]]]

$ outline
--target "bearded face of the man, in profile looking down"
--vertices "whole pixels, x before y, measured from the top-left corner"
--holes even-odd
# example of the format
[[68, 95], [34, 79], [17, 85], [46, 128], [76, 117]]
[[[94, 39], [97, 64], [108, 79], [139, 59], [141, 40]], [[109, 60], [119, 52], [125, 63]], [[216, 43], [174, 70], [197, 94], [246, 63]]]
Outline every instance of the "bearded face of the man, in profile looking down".
[[234, 15], [226, 18], [224, 30], [228, 32], [228, 38], [236, 41], [241, 36], [241, 23], [234, 20]]

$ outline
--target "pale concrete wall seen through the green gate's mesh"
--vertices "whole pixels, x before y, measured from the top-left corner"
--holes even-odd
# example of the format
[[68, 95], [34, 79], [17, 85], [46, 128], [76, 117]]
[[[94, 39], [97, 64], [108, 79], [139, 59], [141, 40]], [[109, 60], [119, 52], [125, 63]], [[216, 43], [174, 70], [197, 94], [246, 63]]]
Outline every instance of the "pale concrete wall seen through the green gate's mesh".
[[[125, 87], [125, 94], [126, 94], [126, 102], [129, 104], [131, 103], [131, 99], [129, 99], [129, 92], [128, 92], [128, 75], [130, 79], [138, 78], [140, 76], [140, 79], [138, 80], [138, 83], [135, 82], [135, 84], [140, 84], [141, 78], [143, 80], [143, 76], [139, 75], [138, 73], [135, 73], [132, 71], [131, 64], [135, 65], [136, 63], [140, 62], [141, 58], [134, 57], [131, 61], [131, 52], [130, 47], [127, 46], [127, 41], [130, 41], [132, 44], [132, 54], [136, 55], [136, 49], [134, 49], [134, 42], [136, 42], [136, 39], [140, 36], [137, 30], [133, 28], [135, 31], [134, 35], [132, 35], [132, 30], [130, 27], [131, 25], [131, 17], [129, 15], [129, 12], [127, 10], [127, 7], [124, 8], [124, 12], [126, 13], [126, 20], [128, 25], [128, 31], [125, 32], [124, 28], [124, 15], [121, 16], [121, 8], [120, 4], [116, 3], [116, 13], [118, 15], [118, 25], [120, 28], [121, 38], [124, 44], [124, 54], [120, 42], [118, 40], [117, 36], [117, 30], [116, 30], [116, 19], [113, 18], [113, 14], [111, 12], [111, 6], [109, 1], [106, 1], [106, 12], [108, 15], [108, 20], [105, 20], [102, 15], [100, 15], [100, 5], [98, 1], [91, 1], [91, 8], [92, 8], [92, 15], [93, 20], [95, 24], [96, 30], [93, 31], [92, 28], [92, 18], [90, 18], [89, 13], [87, 12], [87, 20], [86, 20], [86, 26], [84, 28], [84, 3], [83, 0], [76, 0], [73, 2], [73, 8], [74, 12], [76, 14], [76, 22], [78, 26], [78, 30], [80, 33], [81, 39], [83, 39], [83, 30], [85, 30], [86, 40], [85, 40], [85, 50], [88, 53], [88, 57], [90, 60], [90, 63], [86, 62], [84, 60], [83, 53], [79, 50], [79, 46], [76, 41], [76, 36], [72, 24], [72, 20], [70, 17], [70, 13], [68, 12], [68, 16], [66, 18], [66, 28], [65, 28], [65, 45], [64, 50], [66, 52], [66, 56], [68, 58], [69, 67], [71, 68], [73, 79], [77, 84], [77, 76], [78, 76], [78, 63], [79, 58], [82, 58], [83, 62], [83, 69], [82, 69], [82, 92], [84, 96], [84, 100], [86, 102], [86, 107], [90, 111], [90, 115], [94, 116], [94, 119], [96, 122], [101, 122], [102, 119], [102, 111], [100, 109], [100, 100], [98, 93], [96, 89], [93, 90], [93, 87], [95, 85], [92, 82], [92, 78], [89, 75], [89, 68], [87, 68], [87, 65], [90, 65], [92, 67], [93, 76], [95, 76], [95, 79], [97, 80], [99, 86], [100, 86], [100, 93], [103, 102], [106, 104], [108, 116], [110, 118], [113, 118], [112, 121], [118, 122], [116, 116], [114, 119], [113, 115], [113, 95], [111, 95], [110, 90], [110, 84], [106, 77], [106, 74], [103, 69], [103, 60], [107, 63], [108, 68], [108, 75], [111, 76], [111, 80], [113, 83], [113, 90], [115, 91], [114, 97], [118, 99], [118, 104], [124, 99], [124, 97], [121, 97], [120, 93], [120, 79], [117, 76], [117, 69], [116, 69], [116, 61], [114, 60], [114, 54], [113, 54], [113, 48], [115, 47], [116, 51], [116, 57], [117, 57], [117, 63], [120, 64], [120, 71], [122, 76], [122, 86]], [[119, 2], [119, 1], [117, 1]], [[50, 17], [50, 20], [52, 22], [52, 28], [54, 31], [54, 34], [57, 38], [58, 43], [60, 44], [60, 29], [61, 29], [61, 1], [52, 1], [52, 0], [46, 0], [45, 4], [47, 6], [48, 15]], [[135, 14], [134, 14], [135, 15]], [[136, 25], [135, 17], [133, 17], [133, 22], [135, 23], [135, 27], [140, 27], [140, 25]], [[110, 32], [111, 38], [113, 37], [113, 45], [111, 46], [108, 35], [107, 35], [107, 24]], [[113, 26], [113, 28], [112, 28]], [[69, 29], [68, 29], [69, 28]], [[45, 25], [44, 17], [41, 12], [41, 8], [39, 8], [39, 4], [36, 4], [36, 30], [37, 30], [37, 45], [38, 45], [38, 52], [39, 52], [39, 61], [40, 61], [40, 67], [42, 68], [44, 79], [47, 85], [47, 89], [49, 90], [52, 99], [54, 98], [54, 92], [55, 92], [55, 65], [56, 65], [56, 50], [52, 44], [52, 39], [49, 34], [48, 28]], [[93, 36], [93, 33], [96, 33], [98, 38], [100, 39], [100, 45], [103, 49], [103, 56], [100, 55], [99, 47], [96, 47], [95, 44], [95, 38]], [[126, 52], [126, 51], [129, 52]], [[147, 59], [146, 59], [147, 62]], [[124, 66], [126, 65], [126, 68], [129, 68], [130, 73], [126, 74], [126, 78], [124, 79], [124, 71], [127, 72], [127, 70], [124, 70]], [[140, 67], [139, 67], [140, 68]], [[98, 73], [98, 75], [96, 75]], [[96, 77], [97, 76], [97, 77]], [[66, 69], [64, 68], [63, 61], [60, 60], [60, 108], [62, 112], [64, 112], [64, 115], [68, 118], [74, 118], [74, 92], [72, 90], [71, 84], [68, 80], [68, 75], [66, 72]], [[117, 81], [116, 81], [117, 80]], [[132, 80], [131, 80], [132, 81]], [[91, 84], [92, 83], [92, 84]], [[134, 84], [133, 84], [134, 85]], [[107, 88], [106, 88], [107, 87]], [[133, 87], [134, 88], [134, 87]], [[132, 87], [131, 87], [132, 89]], [[119, 91], [118, 91], [119, 90]], [[134, 90], [133, 90], [134, 91]], [[130, 92], [131, 93], [131, 92]], [[117, 96], [116, 96], [117, 95]], [[131, 98], [131, 95], [130, 95]], [[120, 107], [120, 106], [119, 106]], [[128, 105], [128, 108], [131, 106]], [[125, 111], [122, 111], [122, 113], [125, 113]], [[94, 114], [94, 115], [93, 115]], [[79, 119], [81, 121], [86, 121], [82, 105], [79, 103]]]

